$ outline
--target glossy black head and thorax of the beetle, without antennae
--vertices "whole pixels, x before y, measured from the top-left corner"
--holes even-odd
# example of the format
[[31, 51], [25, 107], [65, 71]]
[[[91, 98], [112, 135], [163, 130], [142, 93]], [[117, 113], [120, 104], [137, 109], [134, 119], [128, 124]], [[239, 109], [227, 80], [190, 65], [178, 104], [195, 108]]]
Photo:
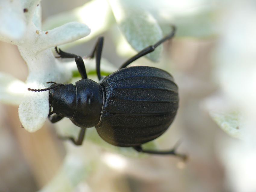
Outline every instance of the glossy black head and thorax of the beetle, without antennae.
[[93, 127], [100, 122], [103, 90], [91, 79], [81, 79], [50, 90], [52, 112], [70, 118], [78, 127]]

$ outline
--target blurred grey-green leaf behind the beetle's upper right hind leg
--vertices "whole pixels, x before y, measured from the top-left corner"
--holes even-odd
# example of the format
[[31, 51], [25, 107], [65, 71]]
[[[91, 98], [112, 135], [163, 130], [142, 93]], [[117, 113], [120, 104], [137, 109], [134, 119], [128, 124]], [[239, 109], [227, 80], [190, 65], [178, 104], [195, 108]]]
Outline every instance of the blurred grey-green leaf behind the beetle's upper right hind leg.
[[[161, 28], [148, 11], [134, 7], [127, 1], [109, 0], [109, 3], [119, 28], [136, 51], [154, 45], [162, 38]], [[158, 61], [161, 51], [162, 45], [146, 57]]]

